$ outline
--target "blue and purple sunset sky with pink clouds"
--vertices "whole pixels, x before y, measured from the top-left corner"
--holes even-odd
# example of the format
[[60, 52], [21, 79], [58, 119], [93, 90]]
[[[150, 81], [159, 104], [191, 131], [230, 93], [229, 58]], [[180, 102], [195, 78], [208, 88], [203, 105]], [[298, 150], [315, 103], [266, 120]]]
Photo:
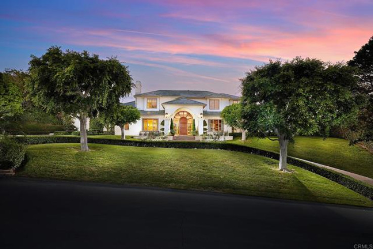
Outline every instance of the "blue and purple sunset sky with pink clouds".
[[352, 59], [372, 13], [373, 0], [3, 1], [0, 71], [58, 45], [117, 56], [143, 92], [240, 95], [240, 78], [270, 59]]

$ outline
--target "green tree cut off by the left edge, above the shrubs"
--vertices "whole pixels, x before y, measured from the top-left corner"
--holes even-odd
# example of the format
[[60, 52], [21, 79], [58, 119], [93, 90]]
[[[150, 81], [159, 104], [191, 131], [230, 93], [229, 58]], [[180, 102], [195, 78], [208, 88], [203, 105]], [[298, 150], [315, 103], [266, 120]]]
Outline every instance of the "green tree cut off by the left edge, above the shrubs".
[[0, 72], [0, 120], [23, 113], [22, 92], [5, 73]]

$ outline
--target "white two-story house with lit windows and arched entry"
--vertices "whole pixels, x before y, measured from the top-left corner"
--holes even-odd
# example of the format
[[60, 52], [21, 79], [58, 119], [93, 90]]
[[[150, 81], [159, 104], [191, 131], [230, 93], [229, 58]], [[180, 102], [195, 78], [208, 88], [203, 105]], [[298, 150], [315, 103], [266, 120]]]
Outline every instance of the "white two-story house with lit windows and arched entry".
[[[136, 136], [148, 131], [168, 134], [171, 120], [175, 135], [192, 135], [193, 121], [199, 134], [204, 132], [231, 132], [224, 124], [220, 112], [224, 107], [238, 103], [240, 97], [193, 90], [158, 90], [141, 93], [141, 85], [136, 85], [135, 101], [124, 103], [136, 107], [141, 119], [125, 126], [125, 134]], [[204, 123], [204, 121], [206, 121]], [[115, 127], [115, 135], [120, 135], [120, 127]]]

